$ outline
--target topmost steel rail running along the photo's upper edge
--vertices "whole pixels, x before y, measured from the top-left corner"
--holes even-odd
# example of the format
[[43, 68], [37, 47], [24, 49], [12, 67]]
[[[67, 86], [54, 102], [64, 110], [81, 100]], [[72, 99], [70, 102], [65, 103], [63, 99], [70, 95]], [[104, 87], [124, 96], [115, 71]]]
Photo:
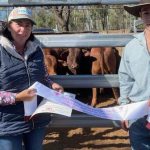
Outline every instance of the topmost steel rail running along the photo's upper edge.
[[121, 5], [136, 4], [139, 0], [1, 0], [0, 7], [59, 6], [59, 5]]

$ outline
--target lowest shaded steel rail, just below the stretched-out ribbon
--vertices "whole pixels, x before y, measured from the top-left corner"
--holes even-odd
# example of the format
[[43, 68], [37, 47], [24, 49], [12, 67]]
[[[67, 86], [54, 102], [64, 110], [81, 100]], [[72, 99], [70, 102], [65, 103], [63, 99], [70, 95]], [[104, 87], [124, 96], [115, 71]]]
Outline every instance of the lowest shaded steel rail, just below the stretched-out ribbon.
[[84, 127], [115, 127], [120, 128], [120, 121], [101, 119], [83, 113], [73, 114], [72, 117], [51, 115], [49, 127], [55, 128], [84, 128]]

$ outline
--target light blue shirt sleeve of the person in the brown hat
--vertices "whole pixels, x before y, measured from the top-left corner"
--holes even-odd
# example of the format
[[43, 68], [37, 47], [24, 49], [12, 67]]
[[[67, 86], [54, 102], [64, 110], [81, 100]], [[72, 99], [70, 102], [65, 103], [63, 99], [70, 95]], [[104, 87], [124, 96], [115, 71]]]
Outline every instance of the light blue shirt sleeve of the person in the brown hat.
[[[127, 50], [127, 51], [126, 51]], [[134, 84], [134, 77], [130, 68], [130, 62], [128, 59], [128, 48], [126, 47], [119, 66], [119, 84], [120, 84], [120, 98], [119, 104], [128, 104], [131, 102], [129, 99], [129, 93]]]

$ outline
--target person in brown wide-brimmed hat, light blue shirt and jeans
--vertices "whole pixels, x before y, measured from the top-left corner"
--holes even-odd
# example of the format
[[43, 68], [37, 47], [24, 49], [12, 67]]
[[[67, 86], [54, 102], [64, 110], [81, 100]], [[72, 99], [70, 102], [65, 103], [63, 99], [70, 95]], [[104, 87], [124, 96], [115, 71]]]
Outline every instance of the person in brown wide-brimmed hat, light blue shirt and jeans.
[[[144, 32], [134, 35], [126, 45], [120, 67], [120, 104], [150, 99], [150, 1], [141, 0], [138, 5], [124, 6], [130, 14], [141, 17]], [[122, 122], [128, 130], [127, 121]], [[150, 128], [147, 116], [129, 122], [129, 138], [133, 150], [150, 149]]]

